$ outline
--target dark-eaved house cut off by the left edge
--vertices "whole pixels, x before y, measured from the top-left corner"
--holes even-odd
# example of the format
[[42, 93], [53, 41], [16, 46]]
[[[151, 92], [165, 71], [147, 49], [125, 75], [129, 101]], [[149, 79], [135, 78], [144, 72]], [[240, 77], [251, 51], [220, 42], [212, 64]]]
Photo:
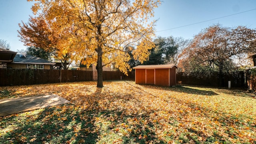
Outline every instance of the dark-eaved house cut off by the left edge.
[[0, 48], [0, 68], [6, 68], [6, 64], [12, 62], [16, 54], [17, 52]]

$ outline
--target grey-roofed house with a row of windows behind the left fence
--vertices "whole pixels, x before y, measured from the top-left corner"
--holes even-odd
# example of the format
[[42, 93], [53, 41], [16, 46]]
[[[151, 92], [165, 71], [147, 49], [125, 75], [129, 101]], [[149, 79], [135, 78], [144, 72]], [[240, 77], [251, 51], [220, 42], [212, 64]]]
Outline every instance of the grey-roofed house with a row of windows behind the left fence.
[[13, 59], [12, 63], [7, 64], [7, 68], [14, 68], [14, 69], [51, 69], [54, 62], [50, 62], [48, 60], [44, 60], [42, 58], [38, 58], [32, 55], [23, 55], [23, 54], [16, 54]]

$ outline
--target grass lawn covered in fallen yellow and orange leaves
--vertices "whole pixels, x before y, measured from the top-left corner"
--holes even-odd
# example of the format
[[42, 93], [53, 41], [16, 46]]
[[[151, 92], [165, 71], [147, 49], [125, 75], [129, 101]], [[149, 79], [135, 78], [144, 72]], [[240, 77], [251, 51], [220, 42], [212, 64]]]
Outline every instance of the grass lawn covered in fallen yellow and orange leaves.
[[0, 117], [0, 143], [256, 143], [256, 99], [239, 90], [132, 81], [0, 87], [0, 98], [58, 94], [71, 104]]

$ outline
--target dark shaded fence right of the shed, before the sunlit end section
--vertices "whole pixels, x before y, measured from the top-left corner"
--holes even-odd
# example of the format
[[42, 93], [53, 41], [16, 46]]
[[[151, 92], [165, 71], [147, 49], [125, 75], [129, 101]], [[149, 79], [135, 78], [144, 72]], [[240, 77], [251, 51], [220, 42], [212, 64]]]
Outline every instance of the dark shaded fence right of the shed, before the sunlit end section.
[[[193, 76], [184, 75], [183, 72], [176, 74], [176, 83], [190, 84], [198, 86], [220, 86], [220, 74], [214, 73], [210, 76]], [[237, 71], [222, 76], [223, 86], [228, 86], [228, 81], [231, 81], [232, 87], [247, 87], [246, 72]]]

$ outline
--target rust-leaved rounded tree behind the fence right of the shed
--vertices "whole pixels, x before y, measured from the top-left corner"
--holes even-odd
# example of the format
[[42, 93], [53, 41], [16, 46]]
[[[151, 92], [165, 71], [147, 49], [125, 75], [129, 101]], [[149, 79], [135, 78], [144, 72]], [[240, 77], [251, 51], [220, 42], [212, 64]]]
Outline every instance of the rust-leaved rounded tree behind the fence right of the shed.
[[234, 70], [234, 58], [256, 52], [256, 30], [244, 26], [237, 28], [210, 26], [194, 37], [181, 54], [179, 66], [187, 74], [222, 75]]

